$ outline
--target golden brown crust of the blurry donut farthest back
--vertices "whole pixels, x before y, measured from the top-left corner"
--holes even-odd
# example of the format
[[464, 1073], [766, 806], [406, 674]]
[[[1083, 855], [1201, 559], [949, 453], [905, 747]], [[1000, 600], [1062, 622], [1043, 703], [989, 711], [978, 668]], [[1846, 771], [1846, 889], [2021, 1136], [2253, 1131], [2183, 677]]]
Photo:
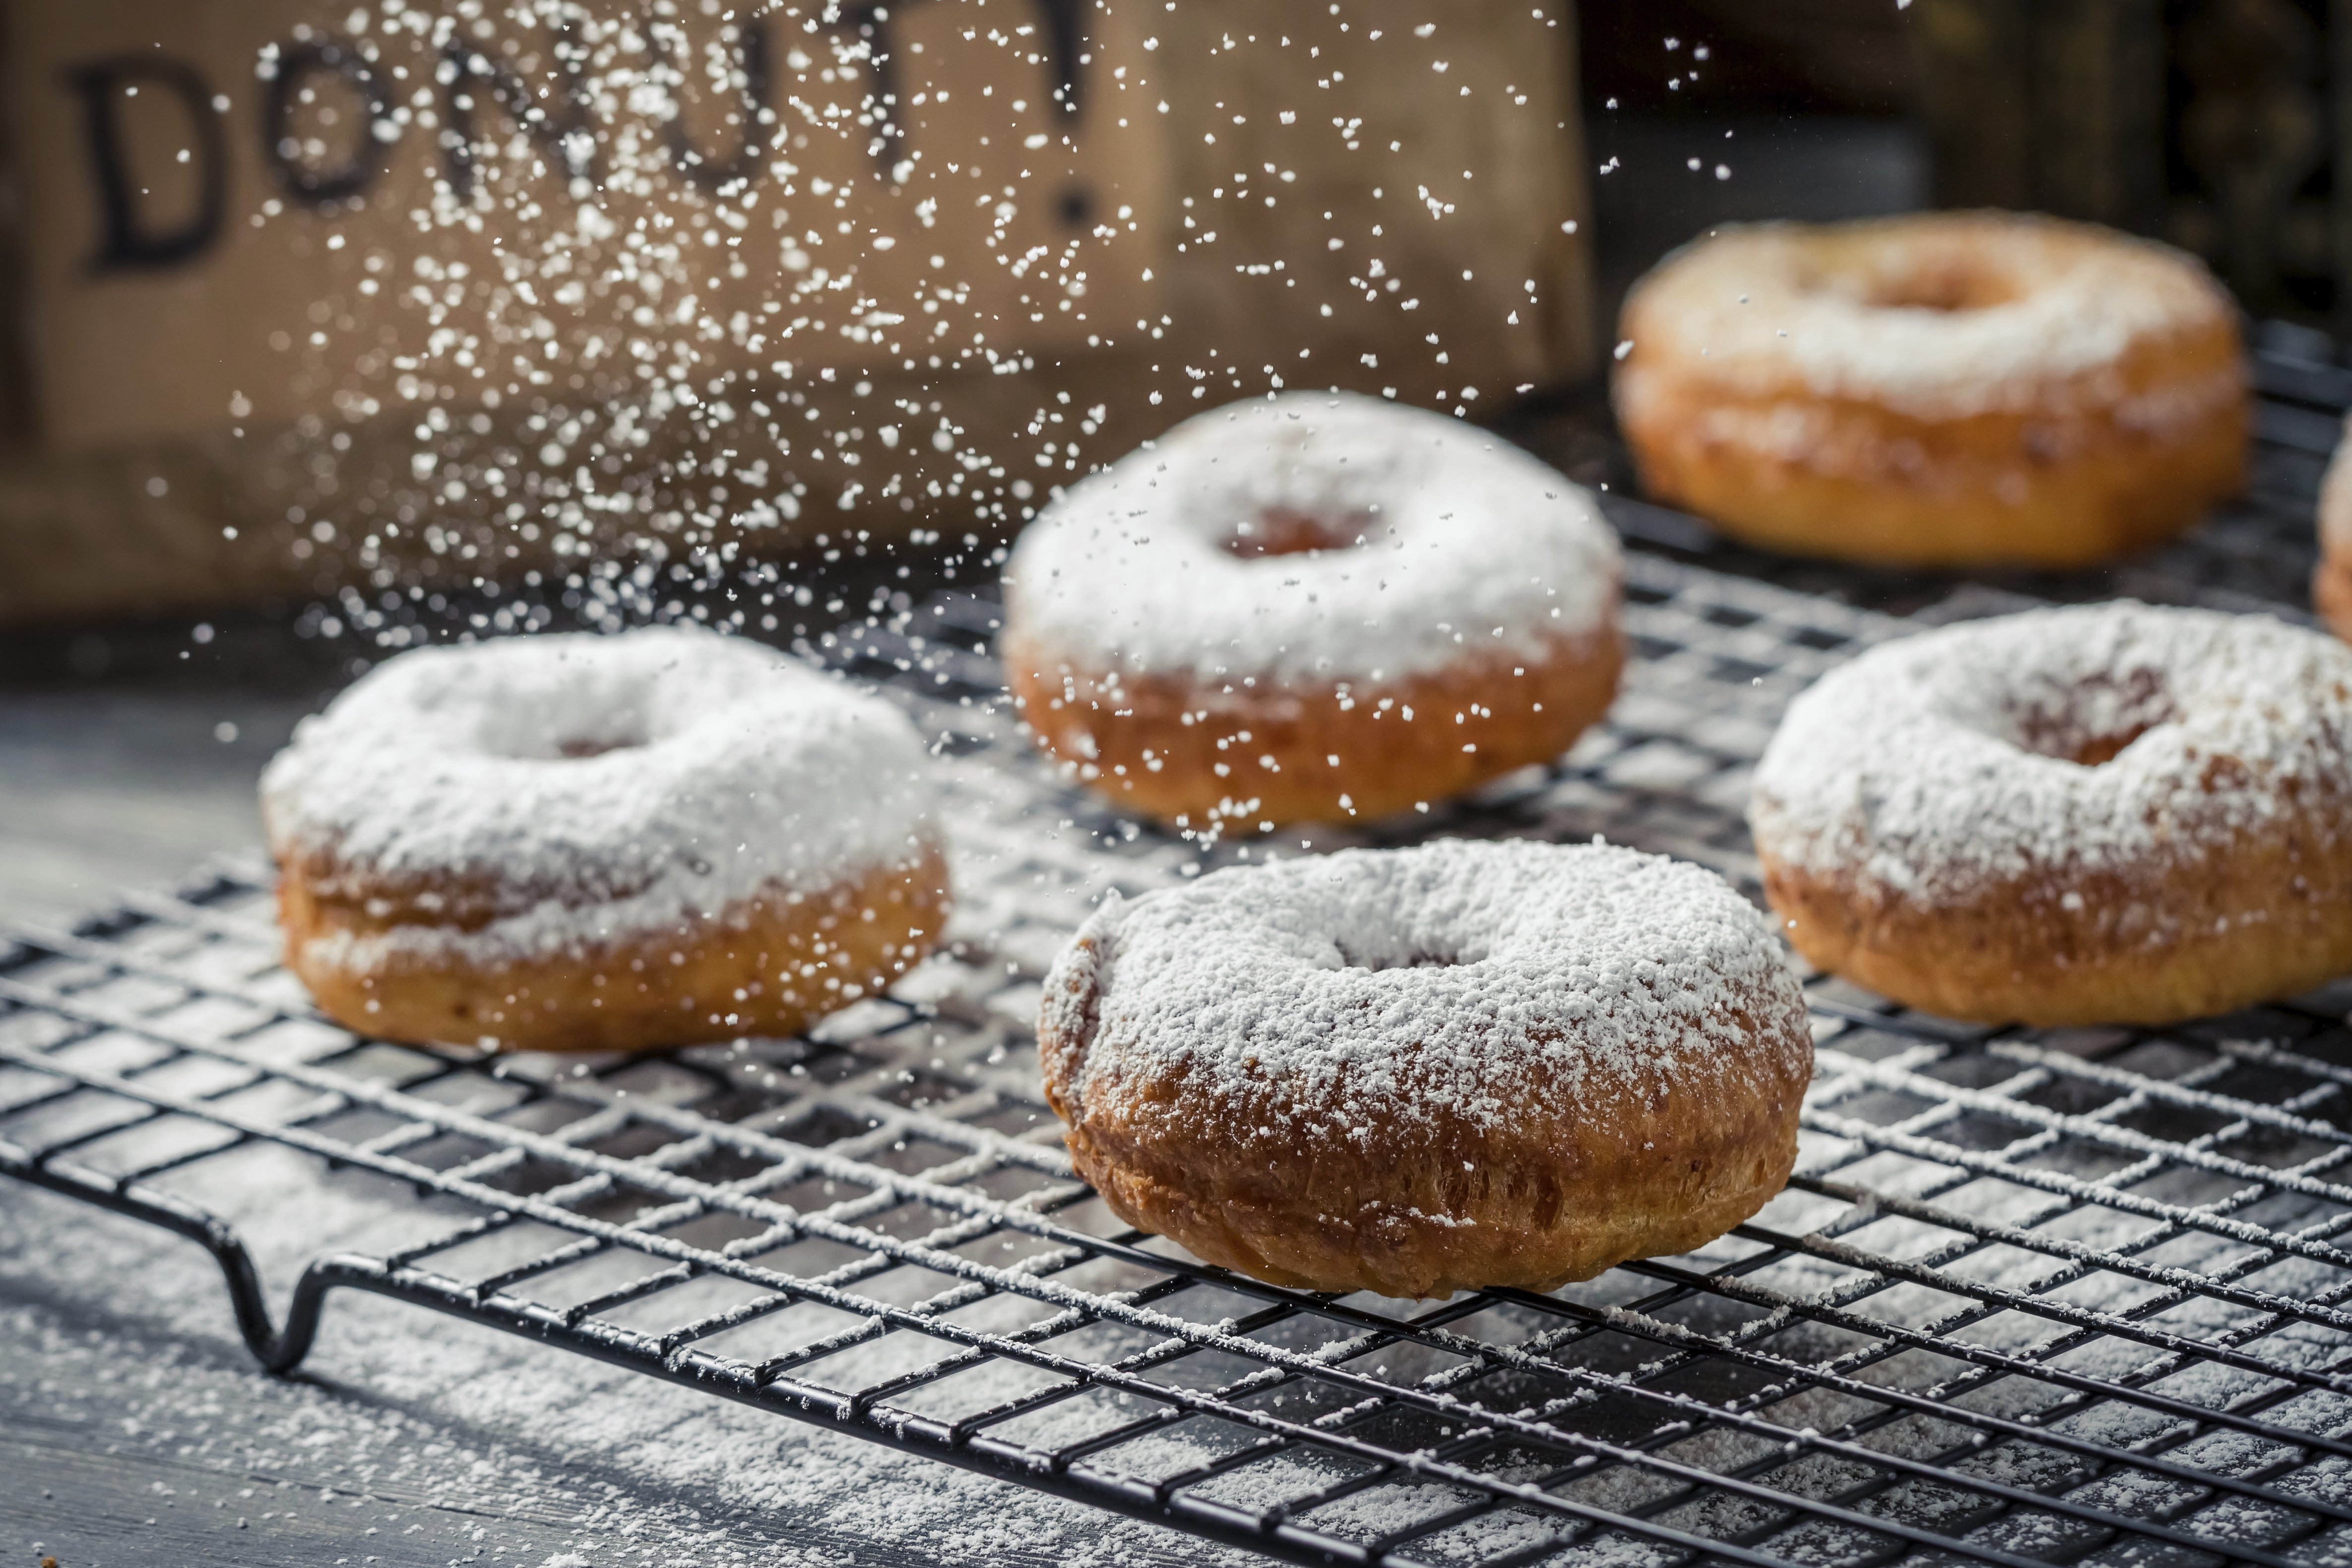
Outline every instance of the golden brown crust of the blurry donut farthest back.
[[[1898, 223], [1947, 230], [1964, 270], [1971, 247], [1997, 247], [2025, 221], [1943, 214], [1884, 228]], [[2032, 230], [2131, 244], [2077, 226]], [[2138, 339], [2112, 367], [2030, 388], [2025, 407], [1950, 418], [1820, 395], [1795, 367], [1778, 383], [1733, 383], [1668, 348], [1672, 310], [1672, 289], [1637, 287], [1621, 329], [1632, 350], [1616, 407], [1642, 484], [1766, 550], [1884, 567], [2082, 567], [2180, 534], [2244, 484], [2244, 390], [2161, 428], [2124, 416], [2133, 402], [2244, 381], [2225, 303]]]

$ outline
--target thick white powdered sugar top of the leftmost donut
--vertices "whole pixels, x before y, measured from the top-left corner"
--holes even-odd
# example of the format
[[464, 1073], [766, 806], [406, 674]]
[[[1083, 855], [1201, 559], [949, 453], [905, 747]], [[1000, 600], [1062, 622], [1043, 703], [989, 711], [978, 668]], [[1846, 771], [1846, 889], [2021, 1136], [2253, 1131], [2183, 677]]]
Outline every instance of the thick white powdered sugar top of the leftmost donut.
[[[522, 952], [708, 919], [901, 865], [931, 837], [913, 722], [691, 628], [402, 654], [261, 778], [270, 849]], [[346, 889], [348, 891], [348, 889]]]

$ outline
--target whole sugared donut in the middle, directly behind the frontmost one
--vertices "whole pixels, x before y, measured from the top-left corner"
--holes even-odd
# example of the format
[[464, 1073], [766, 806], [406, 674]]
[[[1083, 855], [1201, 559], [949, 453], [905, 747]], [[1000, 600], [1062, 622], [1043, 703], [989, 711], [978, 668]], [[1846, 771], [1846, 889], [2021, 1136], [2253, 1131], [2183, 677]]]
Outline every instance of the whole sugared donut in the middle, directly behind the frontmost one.
[[1289, 393], [1200, 414], [1021, 534], [1021, 717], [1181, 827], [1378, 818], [1559, 757], [1616, 696], [1592, 498], [1442, 414]]

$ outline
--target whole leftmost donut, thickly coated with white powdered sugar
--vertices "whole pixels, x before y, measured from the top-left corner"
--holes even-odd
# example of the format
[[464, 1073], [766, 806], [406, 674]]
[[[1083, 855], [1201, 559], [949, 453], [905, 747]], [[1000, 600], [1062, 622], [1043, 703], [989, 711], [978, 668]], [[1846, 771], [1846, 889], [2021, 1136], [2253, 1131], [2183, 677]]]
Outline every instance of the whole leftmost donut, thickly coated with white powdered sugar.
[[261, 778], [287, 966], [412, 1044], [793, 1034], [938, 943], [927, 766], [889, 703], [715, 632], [402, 654]]

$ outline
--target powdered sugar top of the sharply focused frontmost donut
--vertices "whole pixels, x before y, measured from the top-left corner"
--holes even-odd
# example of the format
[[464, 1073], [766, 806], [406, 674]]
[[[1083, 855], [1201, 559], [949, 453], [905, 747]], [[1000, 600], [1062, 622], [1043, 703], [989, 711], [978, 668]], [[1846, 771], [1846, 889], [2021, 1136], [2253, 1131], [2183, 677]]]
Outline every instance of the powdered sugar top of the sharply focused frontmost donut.
[[1112, 896], [1047, 978], [1040, 1044], [1073, 1121], [1404, 1154], [1795, 1105], [1804, 1018], [1766, 919], [1715, 872], [1451, 839]]

